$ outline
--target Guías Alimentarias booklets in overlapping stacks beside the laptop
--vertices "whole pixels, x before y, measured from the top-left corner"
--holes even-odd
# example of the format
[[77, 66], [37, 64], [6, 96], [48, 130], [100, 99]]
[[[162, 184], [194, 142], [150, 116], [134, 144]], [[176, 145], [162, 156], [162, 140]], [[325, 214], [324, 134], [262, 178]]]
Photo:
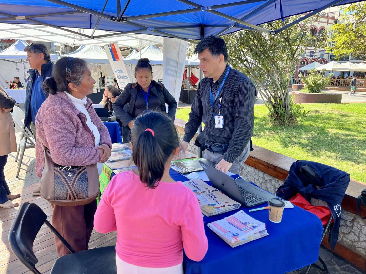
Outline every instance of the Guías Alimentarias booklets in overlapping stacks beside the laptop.
[[208, 217], [225, 213], [242, 206], [220, 190], [203, 182], [201, 179], [186, 181], [183, 182], [183, 184], [196, 194], [201, 212]]

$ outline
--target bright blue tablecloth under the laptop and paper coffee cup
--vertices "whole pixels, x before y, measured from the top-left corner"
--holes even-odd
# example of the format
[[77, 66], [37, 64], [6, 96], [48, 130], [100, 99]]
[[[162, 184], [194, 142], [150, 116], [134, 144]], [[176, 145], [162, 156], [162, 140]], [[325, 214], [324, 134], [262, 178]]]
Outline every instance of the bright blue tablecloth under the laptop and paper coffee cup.
[[[112, 172], [111, 178], [114, 175]], [[188, 180], [172, 169], [170, 175], [176, 181]], [[236, 178], [238, 175], [233, 177]], [[265, 205], [253, 208], [263, 206]], [[269, 236], [232, 248], [206, 225], [239, 210], [264, 222]], [[185, 274], [282, 274], [318, 260], [323, 227], [320, 219], [313, 213], [297, 206], [285, 208], [282, 221], [276, 224], [268, 220], [268, 210], [257, 212], [248, 212], [248, 210], [242, 206], [238, 210], [217, 216], [203, 217], [208, 251], [201, 262], [190, 260], [184, 254]]]

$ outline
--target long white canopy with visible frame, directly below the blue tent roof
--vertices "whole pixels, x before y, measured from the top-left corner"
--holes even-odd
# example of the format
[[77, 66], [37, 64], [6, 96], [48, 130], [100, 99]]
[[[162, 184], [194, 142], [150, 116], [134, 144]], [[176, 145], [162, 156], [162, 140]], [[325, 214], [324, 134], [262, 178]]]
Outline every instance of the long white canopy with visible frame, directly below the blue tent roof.
[[[38, 26], [31, 24], [10, 24], [0, 23], [0, 39], [24, 39], [32, 41], [47, 41], [61, 43], [64, 45], [100, 45], [104, 46], [109, 43], [117, 42], [118, 45], [124, 47], [145, 47], [156, 44], [163, 44], [163, 37], [146, 35], [146, 34], [124, 34], [116, 35], [109, 38], [90, 39], [80, 34], [91, 35], [93, 29], [88, 28], [65, 28], [59, 30], [53, 27]], [[113, 31], [96, 30], [93, 36], [111, 35]]]

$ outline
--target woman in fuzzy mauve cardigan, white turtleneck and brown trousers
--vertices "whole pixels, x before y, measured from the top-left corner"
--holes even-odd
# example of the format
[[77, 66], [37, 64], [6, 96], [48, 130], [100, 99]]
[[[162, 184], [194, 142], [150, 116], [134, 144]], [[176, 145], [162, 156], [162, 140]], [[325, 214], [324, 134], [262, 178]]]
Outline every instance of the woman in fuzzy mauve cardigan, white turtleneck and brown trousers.
[[[49, 96], [36, 116], [37, 138], [49, 149], [56, 164], [97, 163], [100, 173], [103, 163], [111, 156], [112, 144], [108, 129], [93, 109], [93, 102], [86, 97], [93, 93], [95, 83], [87, 63], [79, 58], [63, 57], [53, 67], [52, 76], [42, 84]], [[36, 142], [38, 177], [44, 166], [40, 141]], [[52, 205], [52, 209], [52, 225], [57, 231], [76, 252], [87, 250], [97, 202], [79, 206]], [[57, 237], [55, 242], [59, 256], [70, 253]]]

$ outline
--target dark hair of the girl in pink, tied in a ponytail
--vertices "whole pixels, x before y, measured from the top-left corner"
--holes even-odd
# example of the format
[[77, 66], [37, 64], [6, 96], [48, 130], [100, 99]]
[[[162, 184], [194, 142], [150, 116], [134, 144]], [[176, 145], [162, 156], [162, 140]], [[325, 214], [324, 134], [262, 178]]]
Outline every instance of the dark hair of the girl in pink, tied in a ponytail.
[[156, 111], [138, 116], [132, 126], [131, 143], [132, 160], [138, 167], [140, 180], [154, 189], [163, 177], [169, 157], [179, 147], [172, 119]]

